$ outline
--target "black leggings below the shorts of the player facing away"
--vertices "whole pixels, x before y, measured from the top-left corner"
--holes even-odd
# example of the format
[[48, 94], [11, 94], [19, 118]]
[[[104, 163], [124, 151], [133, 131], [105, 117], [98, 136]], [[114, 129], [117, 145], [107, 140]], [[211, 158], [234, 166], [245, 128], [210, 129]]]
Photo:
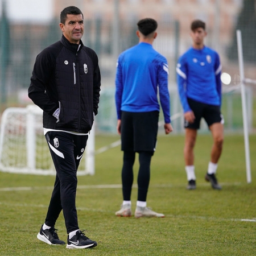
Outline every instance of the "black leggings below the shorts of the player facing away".
[[[150, 183], [150, 162], [152, 152], [139, 152], [139, 172], [138, 172], [138, 201], [147, 199], [148, 185]], [[123, 168], [122, 168], [122, 191], [123, 200], [131, 200], [131, 187], [133, 185], [133, 164], [135, 162], [135, 152], [123, 152]]]

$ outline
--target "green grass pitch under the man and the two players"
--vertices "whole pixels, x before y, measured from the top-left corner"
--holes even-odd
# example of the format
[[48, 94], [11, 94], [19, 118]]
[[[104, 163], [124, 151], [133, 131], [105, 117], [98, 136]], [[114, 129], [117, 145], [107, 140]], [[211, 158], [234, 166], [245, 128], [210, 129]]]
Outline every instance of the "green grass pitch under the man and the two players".
[[[97, 136], [96, 149], [117, 139]], [[121, 187], [92, 185], [121, 184], [122, 152], [116, 147], [96, 156], [96, 174], [79, 176], [77, 189], [80, 228], [98, 242], [97, 247], [87, 250], [49, 246], [36, 238], [55, 177], [0, 172], [0, 255], [255, 255], [256, 222], [242, 220], [256, 220], [256, 135], [250, 136], [251, 184], [246, 183], [242, 135], [226, 135], [217, 171], [222, 191], [214, 191], [204, 181], [212, 144], [209, 134], [197, 138], [197, 189], [185, 189], [183, 143], [183, 135], [158, 138], [147, 205], [166, 214], [160, 219], [115, 217], [122, 203]], [[134, 184], [137, 170], [138, 162]], [[31, 190], [25, 190], [28, 187]], [[134, 187], [133, 212], [136, 197]], [[62, 214], [56, 228], [65, 241]]]

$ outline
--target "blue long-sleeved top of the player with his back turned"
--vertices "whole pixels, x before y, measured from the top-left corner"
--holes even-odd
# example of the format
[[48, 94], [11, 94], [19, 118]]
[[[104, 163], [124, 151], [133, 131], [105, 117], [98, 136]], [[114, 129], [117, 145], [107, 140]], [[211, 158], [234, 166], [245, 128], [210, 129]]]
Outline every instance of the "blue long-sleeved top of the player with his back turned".
[[117, 118], [126, 112], [151, 112], [163, 109], [164, 122], [170, 123], [168, 64], [151, 44], [139, 43], [122, 52], [117, 61], [115, 77]]

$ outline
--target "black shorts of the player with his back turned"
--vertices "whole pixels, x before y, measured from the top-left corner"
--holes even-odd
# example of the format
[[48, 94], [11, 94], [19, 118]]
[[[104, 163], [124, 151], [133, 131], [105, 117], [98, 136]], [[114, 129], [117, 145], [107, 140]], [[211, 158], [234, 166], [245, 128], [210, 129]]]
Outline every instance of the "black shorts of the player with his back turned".
[[150, 151], [154, 154], [158, 134], [159, 112], [125, 112], [121, 114], [122, 151]]

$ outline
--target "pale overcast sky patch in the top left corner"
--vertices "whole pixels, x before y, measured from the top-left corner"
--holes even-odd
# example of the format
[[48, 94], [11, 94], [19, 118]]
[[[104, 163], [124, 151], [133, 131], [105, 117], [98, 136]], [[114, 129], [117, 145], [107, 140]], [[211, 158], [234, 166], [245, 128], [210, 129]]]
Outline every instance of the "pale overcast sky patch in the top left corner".
[[53, 18], [52, 0], [0, 0], [0, 16], [2, 3], [6, 2], [7, 16], [15, 22], [48, 22]]

